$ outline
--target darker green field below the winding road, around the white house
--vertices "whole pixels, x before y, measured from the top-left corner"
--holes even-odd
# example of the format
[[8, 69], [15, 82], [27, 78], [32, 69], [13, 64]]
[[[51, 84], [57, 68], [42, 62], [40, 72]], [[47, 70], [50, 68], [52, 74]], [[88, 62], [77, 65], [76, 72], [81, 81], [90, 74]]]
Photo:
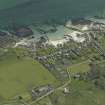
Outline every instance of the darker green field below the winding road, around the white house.
[[[58, 91], [50, 96], [53, 105], [104, 105], [105, 91], [89, 82], [72, 80], [70, 94]], [[40, 104], [43, 105], [43, 104]]]

